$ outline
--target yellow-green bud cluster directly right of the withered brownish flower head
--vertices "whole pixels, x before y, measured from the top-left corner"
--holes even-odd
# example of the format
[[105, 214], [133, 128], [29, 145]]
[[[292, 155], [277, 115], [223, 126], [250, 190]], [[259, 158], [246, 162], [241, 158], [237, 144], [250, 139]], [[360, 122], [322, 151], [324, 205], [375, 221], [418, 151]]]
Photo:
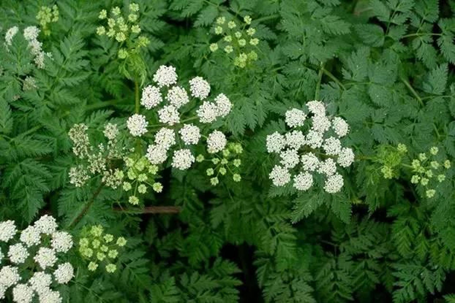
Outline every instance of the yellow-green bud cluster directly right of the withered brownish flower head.
[[158, 166], [151, 164], [146, 157], [138, 158], [136, 156], [127, 157], [125, 159], [127, 168], [127, 181], [123, 182], [122, 188], [130, 194], [128, 202], [133, 205], [139, 204], [138, 194], [145, 194], [149, 188], [153, 191], [161, 193], [163, 186], [159, 182], [155, 182], [157, 178]]

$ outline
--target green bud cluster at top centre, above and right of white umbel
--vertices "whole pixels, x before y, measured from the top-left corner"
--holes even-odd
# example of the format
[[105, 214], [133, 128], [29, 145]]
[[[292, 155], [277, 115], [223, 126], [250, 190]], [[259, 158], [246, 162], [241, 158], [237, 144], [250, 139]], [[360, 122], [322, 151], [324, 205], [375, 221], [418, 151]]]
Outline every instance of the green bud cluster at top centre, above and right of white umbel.
[[250, 26], [251, 20], [251, 17], [247, 15], [243, 18], [243, 23], [237, 25], [234, 20], [227, 22], [225, 17], [218, 17], [213, 31], [222, 38], [212, 43], [209, 47], [210, 50], [216, 52], [221, 48], [226, 54], [233, 54], [233, 63], [240, 68], [245, 68], [258, 60], [255, 49], [259, 44], [259, 39], [253, 38], [256, 29]]

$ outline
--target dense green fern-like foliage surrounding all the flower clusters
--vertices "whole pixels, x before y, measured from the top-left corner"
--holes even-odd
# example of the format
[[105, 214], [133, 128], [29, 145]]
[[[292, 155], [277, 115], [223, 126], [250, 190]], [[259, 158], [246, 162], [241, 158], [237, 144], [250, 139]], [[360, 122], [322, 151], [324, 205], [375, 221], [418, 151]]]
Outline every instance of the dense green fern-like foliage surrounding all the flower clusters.
[[[52, 214], [75, 243], [92, 224], [128, 240], [115, 273], [88, 271], [76, 245], [65, 302], [455, 302], [454, 1], [137, 0], [149, 43], [128, 45], [127, 59], [96, 34], [100, 11], [127, 0], [1, 2], [0, 220], [25, 227]], [[40, 25], [40, 7], [54, 4], [58, 20]], [[235, 51], [210, 45], [219, 16], [247, 15], [257, 59], [240, 67]], [[31, 25], [51, 55], [44, 68], [22, 35]], [[85, 123], [99, 143], [116, 123], [120, 144], [134, 145], [126, 119], [160, 65], [229, 97], [233, 109], [215, 126], [242, 144], [241, 181], [213, 186], [210, 166], [168, 165], [162, 192], [139, 206], [101, 176], [70, 184], [70, 128]], [[355, 162], [337, 194], [269, 179], [277, 158], [267, 135], [314, 99], [350, 127]], [[452, 165], [443, 182], [416, 185], [413, 160], [431, 147], [438, 165]]]

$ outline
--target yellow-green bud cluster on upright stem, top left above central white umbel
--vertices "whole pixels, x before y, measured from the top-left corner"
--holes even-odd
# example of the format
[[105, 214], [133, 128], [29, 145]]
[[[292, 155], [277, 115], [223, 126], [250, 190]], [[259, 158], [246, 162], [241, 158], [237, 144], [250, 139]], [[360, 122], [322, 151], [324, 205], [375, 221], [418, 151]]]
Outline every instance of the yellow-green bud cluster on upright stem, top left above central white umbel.
[[107, 25], [98, 26], [96, 34], [106, 35], [121, 44], [122, 47], [118, 51], [120, 59], [126, 59], [131, 52], [137, 52], [150, 43], [147, 37], [139, 35], [141, 33], [139, 5], [134, 2], [129, 5], [126, 15], [123, 15], [120, 7], [116, 6], [109, 16], [107, 10], [101, 10], [98, 18], [106, 20]]

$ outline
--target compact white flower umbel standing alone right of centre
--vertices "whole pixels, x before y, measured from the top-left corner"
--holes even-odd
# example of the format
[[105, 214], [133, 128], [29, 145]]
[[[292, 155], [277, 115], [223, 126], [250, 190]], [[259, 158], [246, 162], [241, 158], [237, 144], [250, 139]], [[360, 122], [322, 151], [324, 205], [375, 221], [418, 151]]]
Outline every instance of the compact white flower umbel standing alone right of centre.
[[[321, 101], [307, 102], [306, 107], [307, 113], [302, 109], [286, 112], [285, 122], [293, 130], [267, 136], [268, 153], [280, 156], [280, 164], [273, 167], [269, 178], [275, 186], [286, 185], [293, 179], [294, 188], [305, 191], [313, 186], [313, 173], [317, 173], [325, 177], [324, 190], [337, 193], [344, 185], [337, 164], [349, 167], [354, 162], [354, 152], [343, 147], [339, 139], [349, 133], [349, 125], [340, 117], [328, 117]], [[306, 123], [311, 127], [304, 134], [299, 128]], [[291, 169], [298, 171], [293, 178]]]

